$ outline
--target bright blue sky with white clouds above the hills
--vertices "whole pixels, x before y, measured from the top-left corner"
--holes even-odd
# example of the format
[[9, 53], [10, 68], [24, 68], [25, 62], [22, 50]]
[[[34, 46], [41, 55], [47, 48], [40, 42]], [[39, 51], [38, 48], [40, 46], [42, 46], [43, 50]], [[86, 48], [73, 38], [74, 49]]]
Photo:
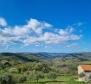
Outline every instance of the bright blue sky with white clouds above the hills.
[[91, 0], [0, 0], [0, 52], [91, 52]]

